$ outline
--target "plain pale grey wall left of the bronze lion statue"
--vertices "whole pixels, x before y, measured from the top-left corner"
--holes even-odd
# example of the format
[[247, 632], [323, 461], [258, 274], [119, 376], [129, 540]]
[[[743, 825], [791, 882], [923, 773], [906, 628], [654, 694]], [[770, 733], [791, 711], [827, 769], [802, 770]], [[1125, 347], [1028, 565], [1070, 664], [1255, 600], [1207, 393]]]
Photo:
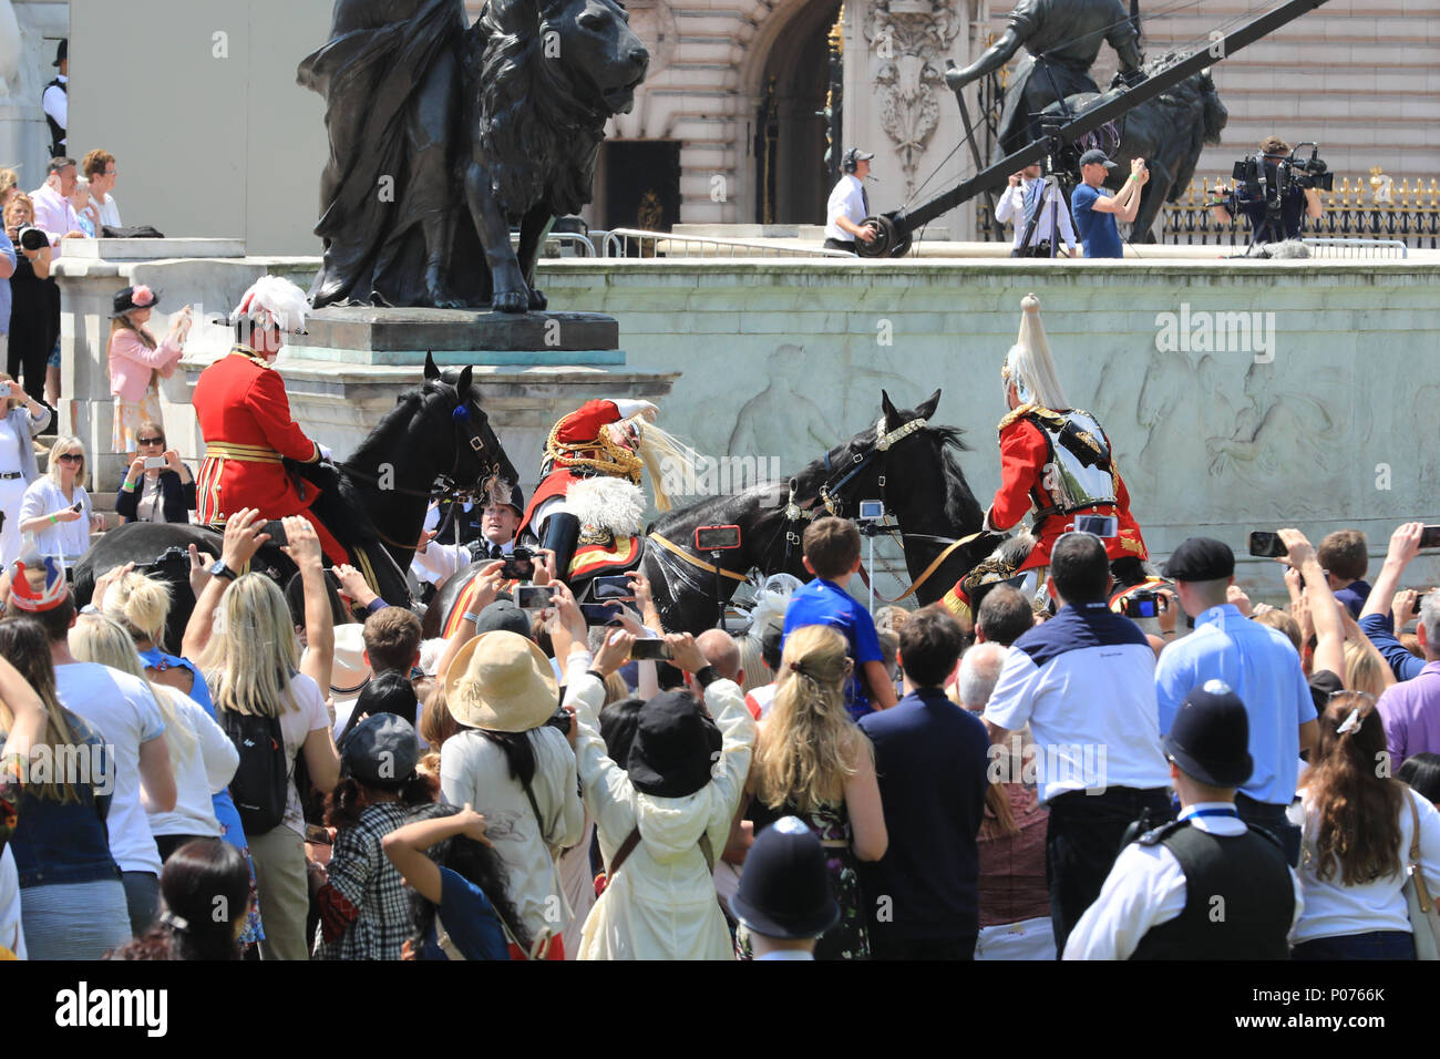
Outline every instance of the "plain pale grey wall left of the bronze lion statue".
[[330, 4], [72, 0], [71, 153], [117, 158], [127, 225], [320, 254], [324, 101], [295, 68]]

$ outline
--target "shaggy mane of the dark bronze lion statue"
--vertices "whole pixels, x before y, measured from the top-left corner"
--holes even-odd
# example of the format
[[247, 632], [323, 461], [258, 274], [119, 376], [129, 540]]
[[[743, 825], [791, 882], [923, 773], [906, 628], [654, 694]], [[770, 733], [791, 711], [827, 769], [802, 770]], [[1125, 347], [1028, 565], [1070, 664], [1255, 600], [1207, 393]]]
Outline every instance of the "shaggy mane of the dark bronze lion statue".
[[511, 216], [539, 202], [577, 213], [590, 200], [609, 117], [582, 101], [563, 61], [544, 56], [544, 39], [533, 0], [490, 0], [471, 29], [468, 95], [478, 95], [481, 153]]

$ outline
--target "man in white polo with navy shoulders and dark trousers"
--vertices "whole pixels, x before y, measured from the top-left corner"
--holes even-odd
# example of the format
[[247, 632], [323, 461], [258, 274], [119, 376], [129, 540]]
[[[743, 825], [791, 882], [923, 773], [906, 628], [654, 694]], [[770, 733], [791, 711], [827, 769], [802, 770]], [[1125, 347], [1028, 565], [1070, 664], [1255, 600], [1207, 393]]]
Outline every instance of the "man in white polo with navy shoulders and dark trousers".
[[1050, 808], [1056, 952], [1100, 895], [1129, 826], [1171, 817], [1155, 651], [1139, 625], [1110, 611], [1113, 582], [1100, 537], [1066, 533], [1056, 542], [1048, 588], [1060, 612], [1009, 648], [982, 715], [995, 743], [1018, 742], [1027, 722], [1034, 735], [1022, 759]]

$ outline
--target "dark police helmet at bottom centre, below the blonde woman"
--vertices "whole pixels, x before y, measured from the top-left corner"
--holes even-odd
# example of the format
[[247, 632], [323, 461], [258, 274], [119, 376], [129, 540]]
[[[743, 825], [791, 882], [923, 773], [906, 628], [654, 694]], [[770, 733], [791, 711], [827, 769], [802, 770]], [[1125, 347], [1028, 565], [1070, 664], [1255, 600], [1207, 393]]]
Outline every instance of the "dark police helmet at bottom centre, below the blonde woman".
[[768, 938], [818, 938], [840, 921], [825, 850], [802, 820], [780, 817], [756, 836], [730, 908]]

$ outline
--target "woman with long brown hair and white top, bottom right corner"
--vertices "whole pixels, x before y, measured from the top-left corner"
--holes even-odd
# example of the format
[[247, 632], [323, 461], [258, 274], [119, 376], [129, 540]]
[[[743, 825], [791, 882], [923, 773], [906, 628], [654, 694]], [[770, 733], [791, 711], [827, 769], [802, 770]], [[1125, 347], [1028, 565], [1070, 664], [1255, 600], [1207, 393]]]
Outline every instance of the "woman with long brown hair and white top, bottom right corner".
[[1319, 722], [1320, 745], [1300, 791], [1305, 911], [1292, 955], [1414, 960], [1403, 886], [1416, 849], [1417, 875], [1440, 895], [1440, 811], [1391, 778], [1372, 696], [1341, 692]]

